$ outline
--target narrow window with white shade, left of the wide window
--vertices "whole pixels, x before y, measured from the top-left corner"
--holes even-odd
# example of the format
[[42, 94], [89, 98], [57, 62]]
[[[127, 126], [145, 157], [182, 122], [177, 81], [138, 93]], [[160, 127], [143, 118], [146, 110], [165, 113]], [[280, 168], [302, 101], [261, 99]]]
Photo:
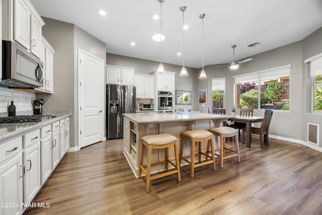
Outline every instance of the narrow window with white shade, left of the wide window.
[[212, 82], [212, 107], [223, 108], [225, 98], [226, 78], [211, 79]]

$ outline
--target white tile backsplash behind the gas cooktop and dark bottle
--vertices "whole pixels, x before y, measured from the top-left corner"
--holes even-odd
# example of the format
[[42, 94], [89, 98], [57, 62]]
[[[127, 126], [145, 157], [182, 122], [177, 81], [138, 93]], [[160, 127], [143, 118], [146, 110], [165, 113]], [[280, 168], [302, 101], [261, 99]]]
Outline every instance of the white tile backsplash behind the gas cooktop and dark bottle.
[[16, 115], [32, 114], [33, 105], [31, 101], [35, 98], [35, 93], [0, 87], [0, 116], [8, 116], [8, 106], [12, 100], [16, 105]]

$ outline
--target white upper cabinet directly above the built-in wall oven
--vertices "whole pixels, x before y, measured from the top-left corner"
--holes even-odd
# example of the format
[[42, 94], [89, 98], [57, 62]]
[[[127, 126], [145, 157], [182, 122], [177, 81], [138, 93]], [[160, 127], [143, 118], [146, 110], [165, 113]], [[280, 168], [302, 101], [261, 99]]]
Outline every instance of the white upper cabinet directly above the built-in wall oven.
[[[152, 73], [153, 74], [153, 73]], [[155, 75], [155, 84], [156, 90], [158, 91], [174, 91], [175, 90], [175, 74], [171, 71], [166, 71], [165, 74], [157, 74]]]

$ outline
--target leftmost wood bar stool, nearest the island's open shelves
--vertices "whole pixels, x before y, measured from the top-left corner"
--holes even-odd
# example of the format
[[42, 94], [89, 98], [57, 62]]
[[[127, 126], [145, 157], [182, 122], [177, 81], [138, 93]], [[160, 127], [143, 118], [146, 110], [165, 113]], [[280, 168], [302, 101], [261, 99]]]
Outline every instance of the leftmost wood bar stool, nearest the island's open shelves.
[[[181, 181], [180, 177], [180, 165], [179, 164], [179, 157], [178, 157], [178, 139], [177, 137], [168, 134], [168, 133], [160, 133], [160, 134], [153, 134], [153, 135], [146, 135], [141, 138], [141, 156], [140, 156], [140, 169], [139, 169], [139, 178], [141, 178], [141, 171], [146, 176], [146, 192], [148, 193], [150, 190], [150, 181], [161, 178], [164, 176], [168, 176], [171, 174], [178, 173], [178, 181]], [[143, 164], [143, 156], [144, 156], [144, 146], [147, 148], [147, 157], [146, 157], [146, 165]], [[169, 147], [174, 146], [175, 148], [175, 159], [176, 164], [174, 164], [172, 161], [169, 160]], [[151, 164], [151, 155], [152, 155], [152, 149], [166, 149], [166, 160], [160, 161]], [[175, 169], [169, 171], [169, 163], [172, 164]], [[151, 167], [157, 166], [157, 165], [163, 165], [167, 164], [167, 172], [154, 174], [150, 176], [151, 174]], [[145, 170], [146, 168], [146, 170]]]

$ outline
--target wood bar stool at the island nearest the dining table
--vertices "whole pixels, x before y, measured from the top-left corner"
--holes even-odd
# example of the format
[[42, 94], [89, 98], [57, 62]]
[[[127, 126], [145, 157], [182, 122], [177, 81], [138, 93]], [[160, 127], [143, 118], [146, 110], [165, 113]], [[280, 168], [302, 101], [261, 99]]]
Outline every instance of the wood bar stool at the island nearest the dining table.
[[[238, 132], [236, 129], [231, 128], [231, 127], [216, 127], [216, 128], [211, 128], [209, 130], [211, 133], [213, 133], [216, 136], [220, 137], [220, 155], [216, 154], [216, 156], [220, 157], [220, 167], [223, 167], [223, 160], [227, 158], [232, 158], [232, 157], [237, 157], [238, 163], [240, 163], [240, 156], [239, 156], [239, 145], [238, 145]], [[225, 137], [235, 137], [235, 150], [225, 148]], [[234, 154], [230, 154], [225, 156], [225, 150], [229, 150], [231, 152], [234, 152]], [[207, 149], [207, 154], [209, 154], [210, 151]]]

